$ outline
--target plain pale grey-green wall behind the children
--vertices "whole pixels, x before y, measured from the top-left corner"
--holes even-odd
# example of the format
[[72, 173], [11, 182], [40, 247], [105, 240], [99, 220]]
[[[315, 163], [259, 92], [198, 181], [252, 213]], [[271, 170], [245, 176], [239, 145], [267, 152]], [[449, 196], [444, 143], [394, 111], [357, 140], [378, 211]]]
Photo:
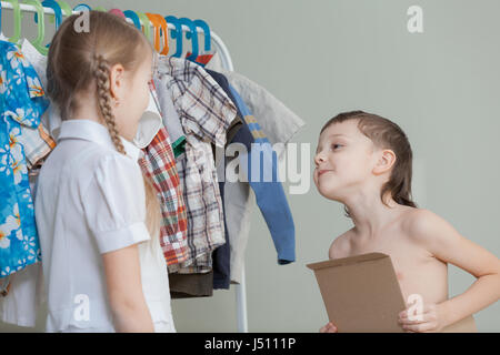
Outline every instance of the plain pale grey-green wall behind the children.
[[[74, 7], [79, 2], [69, 1]], [[224, 41], [236, 71], [258, 82], [303, 121], [296, 142], [311, 144], [334, 114], [361, 109], [396, 121], [414, 153], [419, 206], [500, 255], [500, 2], [463, 0], [141, 0], [87, 1], [91, 7], [203, 19]], [[407, 10], [423, 10], [423, 33], [409, 33]], [[12, 33], [11, 11], [3, 11]], [[34, 40], [32, 16], [23, 37]], [[47, 41], [53, 24], [47, 22]], [[247, 248], [250, 332], [318, 332], [328, 320], [306, 264], [327, 260], [351, 226], [342, 206], [324, 200], [312, 178], [307, 194], [288, 195], [297, 229], [297, 262], [278, 265], [256, 207]], [[288, 191], [288, 184], [284, 184]], [[450, 265], [450, 297], [474, 277]], [[179, 332], [237, 332], [236, 295], [174, 300]], [[43, 315], [41, 310], [40, 315]], [[0, 332], [42, 332], [0, 324]], [[480, 332], [500, 331], [500, 304], [476, 314]]]

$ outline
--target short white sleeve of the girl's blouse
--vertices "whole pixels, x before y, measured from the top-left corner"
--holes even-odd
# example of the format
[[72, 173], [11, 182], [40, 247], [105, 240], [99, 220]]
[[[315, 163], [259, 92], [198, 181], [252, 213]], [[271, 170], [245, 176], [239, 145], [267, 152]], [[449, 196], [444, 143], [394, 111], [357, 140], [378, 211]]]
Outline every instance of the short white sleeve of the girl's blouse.
[[150, 239], [144, 184], [139, 165], [127, 156], [102, 159], [83, 192], [88, 226], [101, 254]]

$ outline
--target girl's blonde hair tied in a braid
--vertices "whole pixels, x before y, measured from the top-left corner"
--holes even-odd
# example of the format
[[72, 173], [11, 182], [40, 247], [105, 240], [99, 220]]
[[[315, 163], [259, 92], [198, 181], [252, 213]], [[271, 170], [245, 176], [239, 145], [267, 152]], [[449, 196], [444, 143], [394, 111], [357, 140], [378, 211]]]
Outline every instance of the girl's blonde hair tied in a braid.
[[[76, 100], [83, 91], [94, 89], [102, 121], [117, 151], [126, 154], [111, 106], [110, 70], [120, 63], [136, 72], [146, 50], [153, 51], [144, 34], [122, 18], [101, 11], [89, 11], [89, 31], [77, 31], [80, 14], [66, 19], [49, 48], [47, 94], [61, 113], [70, 119], [79, 108]], [[151, 182], [143, 176], [147, 221], [152, 237], [159, 235], [160, 206]], [[160, 215], [160, 216], [159, 216]]]

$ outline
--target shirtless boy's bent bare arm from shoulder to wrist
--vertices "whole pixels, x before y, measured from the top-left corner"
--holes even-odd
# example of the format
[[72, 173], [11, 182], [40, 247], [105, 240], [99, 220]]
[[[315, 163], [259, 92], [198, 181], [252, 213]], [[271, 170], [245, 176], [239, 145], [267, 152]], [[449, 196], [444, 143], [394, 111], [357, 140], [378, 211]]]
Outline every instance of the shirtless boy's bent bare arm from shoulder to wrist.
[[464, 293], [438, 305], [443, 327], [499, 300], [500, 261], [497, 256], [463, 237], [451, 224], [430, 211], [420, 210], [411, 224], [412, 234], [434, 257], [478, 278]]

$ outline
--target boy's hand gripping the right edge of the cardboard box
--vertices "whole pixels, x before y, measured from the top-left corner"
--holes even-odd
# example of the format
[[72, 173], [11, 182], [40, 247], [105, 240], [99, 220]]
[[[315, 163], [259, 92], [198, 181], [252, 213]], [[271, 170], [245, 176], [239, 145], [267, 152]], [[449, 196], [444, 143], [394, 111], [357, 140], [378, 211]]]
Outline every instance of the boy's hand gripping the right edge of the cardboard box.
[[409, 307], [399, 314], [398, 323], [407, 333], [441, 332], [444, 327], [442, 313], [439, 304], [423, 305], [420, 311]]

